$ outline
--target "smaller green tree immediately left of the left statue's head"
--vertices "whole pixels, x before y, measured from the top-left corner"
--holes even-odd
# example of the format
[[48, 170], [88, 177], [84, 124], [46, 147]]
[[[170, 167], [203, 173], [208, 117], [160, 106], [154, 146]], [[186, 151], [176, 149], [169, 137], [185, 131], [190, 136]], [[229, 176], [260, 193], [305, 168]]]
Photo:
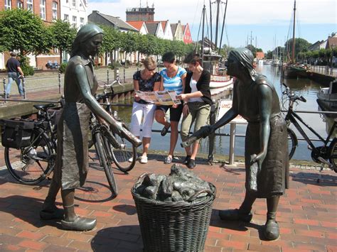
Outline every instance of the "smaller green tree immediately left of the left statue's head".
[[51, 45], [53, 48], [58, 48], [60, 52], [60, 64], [63, 63], [63, 51], [70, 52], [71, 45], [75, 39], [77, 30], [70, 25], [68, 21], [56, 20], [48, 27], [51, 37]]

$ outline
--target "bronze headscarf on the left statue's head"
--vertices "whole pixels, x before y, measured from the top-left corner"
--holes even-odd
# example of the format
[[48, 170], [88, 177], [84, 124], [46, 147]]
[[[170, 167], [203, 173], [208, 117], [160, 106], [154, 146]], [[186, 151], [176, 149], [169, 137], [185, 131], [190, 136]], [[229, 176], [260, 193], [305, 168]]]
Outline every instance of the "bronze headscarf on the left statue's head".
[[80, 31], [77, 32], [76, 38], [71, 47], [70, 57], [73, 57], [80, 51], [81, 43], [100, 33], [103, 33], [102, 29], [94, 23], [87, 23], [85, 26], [82, 26]]

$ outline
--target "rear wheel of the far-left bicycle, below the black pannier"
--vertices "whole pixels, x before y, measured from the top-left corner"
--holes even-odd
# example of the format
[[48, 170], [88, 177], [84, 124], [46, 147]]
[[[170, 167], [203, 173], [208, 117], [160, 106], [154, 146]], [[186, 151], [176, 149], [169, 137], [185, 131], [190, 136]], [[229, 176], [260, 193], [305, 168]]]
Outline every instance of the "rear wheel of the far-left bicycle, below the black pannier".
[[41, 129], [34, 129], [31, 145], [24, 148], [5, 148], [5, 162], [11, 175], [26, 185], [36, 185], [53, 169], [55, 152], [50, 138]]

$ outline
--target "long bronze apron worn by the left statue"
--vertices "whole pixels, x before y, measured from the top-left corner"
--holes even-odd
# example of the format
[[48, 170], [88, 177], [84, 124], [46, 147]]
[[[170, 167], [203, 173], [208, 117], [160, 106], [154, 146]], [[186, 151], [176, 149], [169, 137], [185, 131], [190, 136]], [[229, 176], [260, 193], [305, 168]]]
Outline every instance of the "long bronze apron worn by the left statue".
[[[85, 70], [91, 93], [95, 94], [98, 85], [92, 65], [85, 65]], [[87, 177], [90, 109], [81, 97], [77, 102], [65, 102], [58, 123], [54, 179], [63, 190], [81, 187]]]

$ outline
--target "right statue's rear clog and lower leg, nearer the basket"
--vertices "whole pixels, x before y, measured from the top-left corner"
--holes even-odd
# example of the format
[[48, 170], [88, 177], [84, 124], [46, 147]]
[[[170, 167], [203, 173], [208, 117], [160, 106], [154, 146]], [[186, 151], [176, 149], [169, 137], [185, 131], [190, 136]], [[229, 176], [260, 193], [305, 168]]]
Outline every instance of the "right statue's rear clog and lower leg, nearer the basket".
[[240, 209], [220, 210], [219, 217], [227, 221], [245, 221], [252, 220], [252, 204], [255, 202], [256, 197], [246, 192], [245, 199], [243, 200]]

